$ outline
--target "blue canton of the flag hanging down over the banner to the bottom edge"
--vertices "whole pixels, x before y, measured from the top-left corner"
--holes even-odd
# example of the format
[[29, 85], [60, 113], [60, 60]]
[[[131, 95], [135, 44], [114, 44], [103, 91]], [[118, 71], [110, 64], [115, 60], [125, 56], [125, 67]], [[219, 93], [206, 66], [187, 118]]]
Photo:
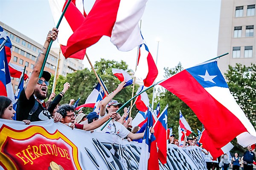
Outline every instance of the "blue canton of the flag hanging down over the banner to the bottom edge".
[[154, 133], [152, 133], [151, 136], [149, 136], [150, 134], [149, 128], [153, 126], [153, 117], [152, 117], [151, 111], [148, 111], [147, 116], [148, 116], [148, 122], [147, 122], [147, 127], [145, 129], [145, 134], [143, 136], [143, 139], [146, 139], [146, 144], [148, 145], [148, 152], [150, 153], [151, 142], [156, 140], [156, 138], [154, 136]]

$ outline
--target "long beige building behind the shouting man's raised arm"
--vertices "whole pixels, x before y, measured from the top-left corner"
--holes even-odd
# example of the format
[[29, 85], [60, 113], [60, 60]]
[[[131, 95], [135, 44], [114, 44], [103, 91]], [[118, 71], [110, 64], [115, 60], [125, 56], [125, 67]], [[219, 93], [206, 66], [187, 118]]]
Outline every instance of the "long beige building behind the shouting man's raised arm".
[[[12, 42], [12, 58], [10, 62], [19, 65], [22, 68], [26, 65], [25, 73], [30, 76], [34, 68], [36, 58], [38, 57], [39, 51], [43, 48], [43, 45], [35, 42], [2, 22], [0, 22], [0, 26], [3, 27]], [[52, 74], [52, 77], [55, 75], [58, 55], [59, 48], [51, 48], [44, 68], [44, 70], [49, 71]], [[61, 53], [58, 75], [66, 77], [68, 73], [73, 73], [74, 71], [81, 70], [83, 68], [84, 65], [82, 64], [82, 60], [65, 59]], [[12, 78], [14, 93], [17, 90], [18, 82], [19, 78]]]

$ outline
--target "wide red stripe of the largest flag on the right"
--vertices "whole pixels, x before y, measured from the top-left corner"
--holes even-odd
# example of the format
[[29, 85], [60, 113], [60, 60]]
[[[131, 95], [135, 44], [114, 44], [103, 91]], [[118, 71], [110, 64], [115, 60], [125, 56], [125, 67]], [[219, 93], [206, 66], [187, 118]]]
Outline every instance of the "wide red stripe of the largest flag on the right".
[[188, 71], [184, 70], [160, 85], [183, 100], [194, 111], [217, 148], [247, 132], [241, 121], [214, 99]]

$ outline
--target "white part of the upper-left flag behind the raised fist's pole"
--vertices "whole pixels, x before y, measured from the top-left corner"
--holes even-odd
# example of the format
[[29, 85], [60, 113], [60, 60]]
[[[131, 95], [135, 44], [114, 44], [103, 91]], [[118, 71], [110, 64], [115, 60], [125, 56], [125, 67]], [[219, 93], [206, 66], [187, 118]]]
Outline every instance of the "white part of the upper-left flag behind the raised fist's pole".
[[[49, 0], [50, 8], [52, 11], [52, 17], [54, 20], [55, 26], [58, 23], [58, 20], [61, 17], [62, 14], [62, 8], [64, 6], [65, 1], [64, 0]], [[72, 29], [70, 28], [70, 25], [68, 24], [65, 17], [61, 20], [61, 24], [58, 28], [58, 42], [61, 45], [67, 45], [67, 40], [69, 37], [73, 34]]]

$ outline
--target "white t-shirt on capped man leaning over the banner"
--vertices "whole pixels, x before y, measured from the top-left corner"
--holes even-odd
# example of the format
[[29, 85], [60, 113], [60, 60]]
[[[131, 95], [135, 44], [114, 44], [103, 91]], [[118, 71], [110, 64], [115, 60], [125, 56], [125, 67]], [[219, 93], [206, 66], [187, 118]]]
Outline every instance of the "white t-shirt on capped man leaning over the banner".
[[[104, 124], [105, 125], [105, 124]], [[116, 134], [121, 138], [125, 138], [130, 131], [121, 123], [111, 120], [108, 125], [101, 131], [100, 129], [104, 126], [97, 128], [97, 132]]]

